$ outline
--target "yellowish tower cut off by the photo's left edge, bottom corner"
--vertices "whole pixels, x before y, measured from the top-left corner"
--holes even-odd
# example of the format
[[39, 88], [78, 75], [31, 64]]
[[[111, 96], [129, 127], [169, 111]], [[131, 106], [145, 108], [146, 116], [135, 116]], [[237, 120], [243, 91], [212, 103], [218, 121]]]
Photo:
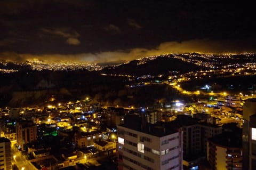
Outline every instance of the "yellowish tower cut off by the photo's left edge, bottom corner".
[[11, 142], [5, 137], [0, 137], [0, 169], [12, 170]]

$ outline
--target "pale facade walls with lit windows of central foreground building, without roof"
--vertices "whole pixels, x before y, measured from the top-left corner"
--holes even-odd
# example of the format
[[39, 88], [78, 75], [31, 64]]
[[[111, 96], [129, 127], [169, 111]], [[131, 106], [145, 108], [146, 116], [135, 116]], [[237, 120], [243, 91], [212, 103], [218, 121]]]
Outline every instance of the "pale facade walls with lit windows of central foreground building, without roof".
[[117, 149], [119, 169], [182, 169], [181, 131], [157, 137], [118, 126]]

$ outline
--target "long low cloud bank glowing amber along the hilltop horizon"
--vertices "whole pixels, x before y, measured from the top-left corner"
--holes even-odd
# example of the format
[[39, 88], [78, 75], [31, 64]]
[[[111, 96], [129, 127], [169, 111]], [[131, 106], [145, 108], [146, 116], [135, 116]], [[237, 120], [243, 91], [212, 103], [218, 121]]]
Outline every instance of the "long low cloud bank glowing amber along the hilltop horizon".
[[[242, 39], [236, 41], [211, 41], [209, 39], [194, 39], [184, 42], [164, 42], [154, 48], [132, 48], [130, 50], [105, 51], [98, 53], [79, 54], [17, 54], [14, 52], [0, 53], [0, 60], [44, 60], [46, 62], [85, 62], [85, 63], [120, 63], [145, 56], [171, 54], [171, 53], [242, 53], [256, 52], [256, 46], [250, 46], [244, 51], [237, 46], [245, 43]], [[236, 50], [234, 50], [236, 48]]]

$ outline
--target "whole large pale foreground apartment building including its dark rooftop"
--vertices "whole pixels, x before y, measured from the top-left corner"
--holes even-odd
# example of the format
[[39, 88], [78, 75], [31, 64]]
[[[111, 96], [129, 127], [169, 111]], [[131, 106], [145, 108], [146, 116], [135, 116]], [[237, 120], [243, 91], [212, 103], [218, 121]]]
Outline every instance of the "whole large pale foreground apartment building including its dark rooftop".
[[119, 169], [183, 169], [181, 128], [148, 124], [143, 116], [127, 115], [117, 129]]

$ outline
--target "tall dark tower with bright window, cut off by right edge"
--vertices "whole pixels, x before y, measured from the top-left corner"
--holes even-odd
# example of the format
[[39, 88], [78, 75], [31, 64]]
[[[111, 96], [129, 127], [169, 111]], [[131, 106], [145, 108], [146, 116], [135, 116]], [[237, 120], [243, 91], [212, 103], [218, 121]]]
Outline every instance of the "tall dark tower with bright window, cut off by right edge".
[[248, 99], [243, 106], [243, 169], [256, 167], [256, 99]]

